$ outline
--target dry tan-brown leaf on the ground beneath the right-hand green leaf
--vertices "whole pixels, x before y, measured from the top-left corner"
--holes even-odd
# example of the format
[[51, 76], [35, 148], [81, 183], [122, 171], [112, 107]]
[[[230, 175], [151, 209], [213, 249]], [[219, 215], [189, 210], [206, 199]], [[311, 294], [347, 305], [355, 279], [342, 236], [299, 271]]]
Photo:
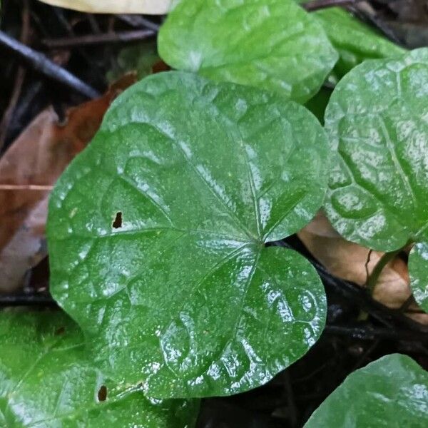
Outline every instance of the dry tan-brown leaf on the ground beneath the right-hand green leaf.
[[[372, 272], [384, 253], [372, 251], [343, 239], [330, 225], [324, 214], [318, 213], [312, 222], [297, 233], [307, 250], [322, 263], [332, 275], [364, 286], [367, 272]], [[370, 254], [370, 260], [369, 260]], [[367, 263], [367, 260], [369, 262]], [[409, 286], [407, 264], [395, 258], [386, 265], [374, 287], [373, 297], [387, 307], [398, 309], [412, 295]], [[428, 325], [428, 314], [416, 303], [408, 308], [406, 315]], [[422, 313], [414, 313], [421, 311]]]

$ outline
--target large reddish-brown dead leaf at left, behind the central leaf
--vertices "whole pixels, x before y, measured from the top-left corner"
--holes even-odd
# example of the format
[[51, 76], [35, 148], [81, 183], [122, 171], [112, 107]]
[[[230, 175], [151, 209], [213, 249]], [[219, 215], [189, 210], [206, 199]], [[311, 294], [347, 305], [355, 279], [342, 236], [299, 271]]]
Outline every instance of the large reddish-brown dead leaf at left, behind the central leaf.
[[0, 159], [0, 292], [19, 287], [26, 270], [46, 256], [50, 188], [91, 141], [113, 98], [135, 81], [129, 74], [103, 97], [71, 108], [63, 126], [47, 108]]

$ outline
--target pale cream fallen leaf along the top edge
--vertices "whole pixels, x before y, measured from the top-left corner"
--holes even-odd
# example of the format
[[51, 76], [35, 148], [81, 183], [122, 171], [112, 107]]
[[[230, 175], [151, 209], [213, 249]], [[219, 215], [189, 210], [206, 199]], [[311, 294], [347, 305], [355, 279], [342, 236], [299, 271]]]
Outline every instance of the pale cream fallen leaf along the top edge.
[[41, 0], [52, 6], [61, 6], [92, 14], [147, 14], [164, 15], [171, 0]]

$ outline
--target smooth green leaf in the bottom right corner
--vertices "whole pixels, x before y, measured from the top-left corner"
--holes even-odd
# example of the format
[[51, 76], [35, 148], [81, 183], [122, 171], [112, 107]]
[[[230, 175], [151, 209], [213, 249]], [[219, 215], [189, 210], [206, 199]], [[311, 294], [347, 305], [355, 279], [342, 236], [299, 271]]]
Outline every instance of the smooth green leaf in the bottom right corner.
[[351, 373], [318, 407], [305, 428], [427, 427], [428, 373], [392, 354]]

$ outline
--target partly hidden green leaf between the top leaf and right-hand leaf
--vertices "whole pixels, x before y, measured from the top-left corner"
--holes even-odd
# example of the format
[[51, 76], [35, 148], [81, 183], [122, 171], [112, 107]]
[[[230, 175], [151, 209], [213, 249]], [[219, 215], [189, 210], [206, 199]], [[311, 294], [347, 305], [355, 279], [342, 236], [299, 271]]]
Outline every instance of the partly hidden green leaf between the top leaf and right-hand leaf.
[[[305, 3], [300, 1], [300, 3]], [[405, 49], [386, 39], [382, 34], [350, 12], [328, 8], [312, 12], [339, 53], [335, 73], [342, 78], [366, 59], [387, 58], [404, 54]]]

